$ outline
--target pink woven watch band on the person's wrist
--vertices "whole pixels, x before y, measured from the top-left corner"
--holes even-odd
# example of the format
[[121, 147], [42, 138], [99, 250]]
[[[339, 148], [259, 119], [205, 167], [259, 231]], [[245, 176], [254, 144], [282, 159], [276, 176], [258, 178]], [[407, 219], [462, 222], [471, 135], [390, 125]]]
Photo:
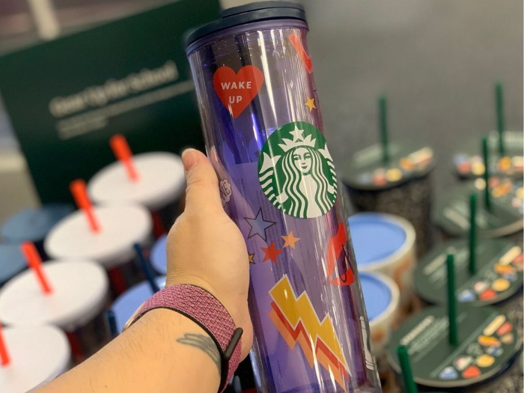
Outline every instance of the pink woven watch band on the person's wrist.
[[146, 312], [165, 308], [177, 311], [204, 329], [217, 344], [222, 358], [222, 392], [238, 367], [242, 329], [237, 329], [222, 303], [208, 291], [193, 285], [174, 285], [155, 293], [136, 313], [132, 323]]

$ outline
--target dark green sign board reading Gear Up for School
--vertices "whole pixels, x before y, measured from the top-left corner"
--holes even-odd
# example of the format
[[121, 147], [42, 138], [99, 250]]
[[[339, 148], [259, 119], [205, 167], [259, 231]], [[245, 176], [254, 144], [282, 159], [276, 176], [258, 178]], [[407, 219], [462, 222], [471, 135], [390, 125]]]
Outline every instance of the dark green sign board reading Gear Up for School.
[[183, 34], [219, 17], [218, 0], [179, 0], [0, 57], [0, 94], [42, 202], [135, 153], [202, 148]]

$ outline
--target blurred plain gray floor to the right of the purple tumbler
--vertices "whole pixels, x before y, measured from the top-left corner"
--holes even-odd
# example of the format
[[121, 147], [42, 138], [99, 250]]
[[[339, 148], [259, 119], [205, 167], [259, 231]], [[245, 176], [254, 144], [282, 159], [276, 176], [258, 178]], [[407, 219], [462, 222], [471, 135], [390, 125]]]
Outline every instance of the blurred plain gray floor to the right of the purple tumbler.
[[391, 139], [427, 141], [435, 183], [454, 183], [454, 148], [495, 128], [494, 83], [506, 124], [522, 130], [522, 0], [304, 0], [328, 143], [339, 171], [378, 138], [377, 96]]

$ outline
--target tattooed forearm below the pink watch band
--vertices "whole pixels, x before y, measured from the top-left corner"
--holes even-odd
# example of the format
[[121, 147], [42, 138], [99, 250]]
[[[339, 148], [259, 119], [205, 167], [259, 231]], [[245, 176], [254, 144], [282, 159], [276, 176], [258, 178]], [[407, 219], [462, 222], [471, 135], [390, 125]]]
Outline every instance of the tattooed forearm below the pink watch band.
[[210, 336], [171, 310], [146, 313], [81, 365], [38, 393], [215, 393], [220, 356]]

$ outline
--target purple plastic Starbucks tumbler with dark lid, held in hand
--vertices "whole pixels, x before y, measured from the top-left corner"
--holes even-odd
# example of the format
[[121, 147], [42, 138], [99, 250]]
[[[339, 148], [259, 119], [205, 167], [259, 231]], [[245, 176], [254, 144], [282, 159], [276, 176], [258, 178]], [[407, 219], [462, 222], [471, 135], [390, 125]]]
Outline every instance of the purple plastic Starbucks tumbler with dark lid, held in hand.
[[249, 254], [258, 390], [378, 392], [307, 31], [301, 6], [253, 3], [191, 32], [187, 54], [222, 203]]

